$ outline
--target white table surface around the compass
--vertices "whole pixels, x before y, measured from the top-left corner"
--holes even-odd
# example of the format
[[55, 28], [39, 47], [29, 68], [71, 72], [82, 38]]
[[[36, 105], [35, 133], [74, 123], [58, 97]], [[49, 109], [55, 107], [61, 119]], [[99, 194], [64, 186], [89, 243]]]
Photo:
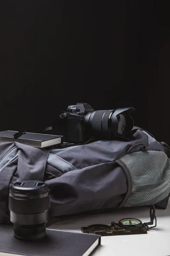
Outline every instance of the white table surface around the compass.
[[[121, 218], [138, 218], [150, 221], [149, 207], [116, 209], [100, 214], [72, 216], [58, 220], [50, 228], [81, 232], [81, 227], [91, 224], [118, 222]], [[99, 246], [91, 256], [170, 256], [170, 201], [167, 209], [156, 209], [157, 227], [147, 234], [126, 236], [102, 236]]]

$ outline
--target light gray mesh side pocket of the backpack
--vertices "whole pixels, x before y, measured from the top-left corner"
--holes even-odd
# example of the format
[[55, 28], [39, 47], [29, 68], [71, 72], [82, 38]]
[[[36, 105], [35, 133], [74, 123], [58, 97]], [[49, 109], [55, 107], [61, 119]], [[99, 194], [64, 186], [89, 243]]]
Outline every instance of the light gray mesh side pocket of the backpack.
[[140, 151], [120, 160], [129, 169], [132, 192], [124, 207], [156, 204], [170, 193], [170, 159], [163, 151]]

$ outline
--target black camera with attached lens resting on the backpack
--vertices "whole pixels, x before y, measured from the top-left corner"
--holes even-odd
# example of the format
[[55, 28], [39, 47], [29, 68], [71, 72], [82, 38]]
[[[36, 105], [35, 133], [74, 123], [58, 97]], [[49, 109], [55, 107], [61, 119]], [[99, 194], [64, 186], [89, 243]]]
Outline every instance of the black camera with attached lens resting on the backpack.
[[134, 110], [134, 108], [118, 108], [94, 111], [88, 103], [69, 105], [67, 111], [59, 115], [60, 133], [63, 141], [69, 143], [128, 137], [133, 128], [130, 114]]

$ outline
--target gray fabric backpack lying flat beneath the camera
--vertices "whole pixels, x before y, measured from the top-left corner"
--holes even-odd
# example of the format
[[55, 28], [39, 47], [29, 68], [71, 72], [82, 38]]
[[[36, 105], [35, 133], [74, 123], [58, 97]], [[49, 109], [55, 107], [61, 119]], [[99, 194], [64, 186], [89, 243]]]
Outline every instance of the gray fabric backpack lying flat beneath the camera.
[[0, 222], [9, 221], [9, 185], [20, 180], [48, 184], [50, 216], [150, 204], [166, 209], [170, 148], [140, 128], [131, 137], [45, 149], [1, 143]]

